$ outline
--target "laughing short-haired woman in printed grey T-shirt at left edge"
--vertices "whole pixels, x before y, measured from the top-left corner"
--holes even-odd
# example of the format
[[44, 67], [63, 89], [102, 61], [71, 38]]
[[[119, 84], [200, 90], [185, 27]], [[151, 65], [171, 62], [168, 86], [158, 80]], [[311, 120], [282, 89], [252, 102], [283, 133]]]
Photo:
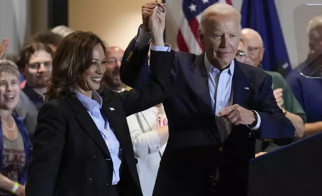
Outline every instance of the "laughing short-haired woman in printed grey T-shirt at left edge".
[[23, 123], [12, 115], [19, 99], [19, 81], [17, 65], [0, 60], [0, 196], [25, 195], [31, 142]]

